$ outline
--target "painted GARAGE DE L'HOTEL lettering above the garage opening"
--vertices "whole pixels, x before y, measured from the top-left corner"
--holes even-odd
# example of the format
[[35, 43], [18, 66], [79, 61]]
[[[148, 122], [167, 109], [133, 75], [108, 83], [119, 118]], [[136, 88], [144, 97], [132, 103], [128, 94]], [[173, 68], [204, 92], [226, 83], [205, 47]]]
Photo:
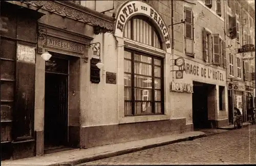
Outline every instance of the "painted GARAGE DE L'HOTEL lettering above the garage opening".
[[224, 81], [224, 74], [218, 69], [202, 68], [197, 65], [184, 63], [183, 66], [179, 67], [179, 70], [184, 70], [186, 74]]

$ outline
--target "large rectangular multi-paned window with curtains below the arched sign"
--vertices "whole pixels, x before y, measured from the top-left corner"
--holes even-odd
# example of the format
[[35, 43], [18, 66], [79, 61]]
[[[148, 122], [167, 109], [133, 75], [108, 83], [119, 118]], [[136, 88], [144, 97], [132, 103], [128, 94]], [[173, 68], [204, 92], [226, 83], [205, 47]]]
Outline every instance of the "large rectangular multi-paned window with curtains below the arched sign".
[[163, 113], [163, 60], [124, 51], [124, 115]]

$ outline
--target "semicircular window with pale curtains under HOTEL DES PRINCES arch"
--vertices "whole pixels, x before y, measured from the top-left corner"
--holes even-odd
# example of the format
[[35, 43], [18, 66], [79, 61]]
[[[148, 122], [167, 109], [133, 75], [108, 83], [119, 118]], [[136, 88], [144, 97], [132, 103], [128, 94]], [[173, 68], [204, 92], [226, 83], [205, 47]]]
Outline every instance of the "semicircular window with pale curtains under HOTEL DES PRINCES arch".
[[162, 49], [159, 34], [150, 23], [151, 20], [147, 17], [135, 16], [126, 23], [123, 36], [127, 39]]

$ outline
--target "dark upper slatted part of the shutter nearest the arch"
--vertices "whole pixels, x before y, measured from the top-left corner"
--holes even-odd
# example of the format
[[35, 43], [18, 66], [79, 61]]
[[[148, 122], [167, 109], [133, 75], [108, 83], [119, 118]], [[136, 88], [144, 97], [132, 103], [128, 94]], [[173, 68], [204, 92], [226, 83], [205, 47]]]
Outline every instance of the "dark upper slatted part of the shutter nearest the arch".
[[185, 7], [185, 38], [193, 39], [193, 12], [190, 8]]

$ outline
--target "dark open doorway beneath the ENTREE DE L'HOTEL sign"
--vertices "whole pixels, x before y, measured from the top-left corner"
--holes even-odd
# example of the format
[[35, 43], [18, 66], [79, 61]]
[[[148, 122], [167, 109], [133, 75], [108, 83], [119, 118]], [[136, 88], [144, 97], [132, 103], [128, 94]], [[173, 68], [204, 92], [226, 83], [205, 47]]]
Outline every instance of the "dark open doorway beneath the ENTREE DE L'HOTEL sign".
[[45, 153], [68, 142], [69, 61], [52, 57], [45, 75]]

